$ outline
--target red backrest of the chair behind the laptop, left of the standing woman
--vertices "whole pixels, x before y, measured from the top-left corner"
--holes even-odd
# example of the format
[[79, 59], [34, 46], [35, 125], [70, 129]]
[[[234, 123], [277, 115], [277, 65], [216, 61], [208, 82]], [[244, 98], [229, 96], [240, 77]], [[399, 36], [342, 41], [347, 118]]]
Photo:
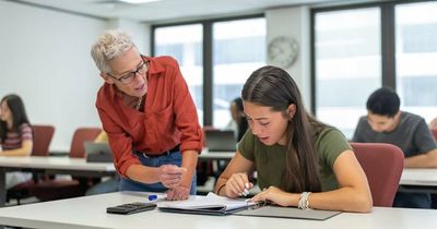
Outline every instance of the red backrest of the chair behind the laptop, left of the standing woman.
[[85, 157], [85, 142], [93, 142], [101, 133], [99, 128], [80, 128], [75, 130], [71, 141], [70, 157]]

